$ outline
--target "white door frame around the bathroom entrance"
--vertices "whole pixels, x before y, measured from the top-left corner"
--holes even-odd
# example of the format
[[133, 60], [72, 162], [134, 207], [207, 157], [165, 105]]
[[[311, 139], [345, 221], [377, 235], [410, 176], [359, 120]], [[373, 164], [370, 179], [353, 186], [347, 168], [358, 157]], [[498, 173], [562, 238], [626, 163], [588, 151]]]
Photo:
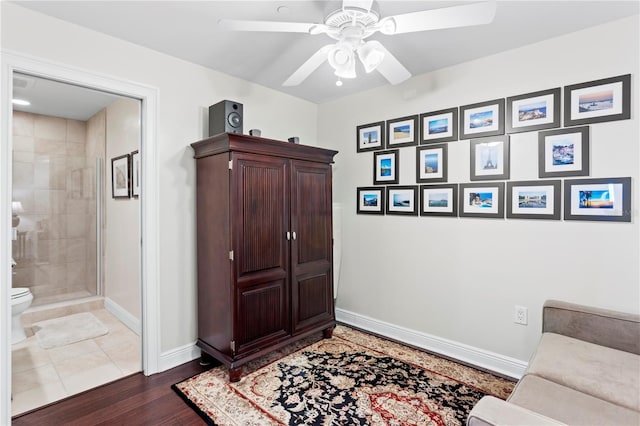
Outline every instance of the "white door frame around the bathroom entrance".
[[[158, 179], [157, 179], [157, 108], [158, 89], [68, 65], [52, 63], [1, 50], [0, 86], [0, 424], [11, 420], [11, 188], [12, 188], [12, 119], [13, 73], [102, 90], [141, 101], [141, 190], [140, 190], [140, 274], [142, 292], [142, 369], [145, 375], [159, 371], [160, 303], [158, 263]], [[105, 160], [106, 161], [106, 160]]]

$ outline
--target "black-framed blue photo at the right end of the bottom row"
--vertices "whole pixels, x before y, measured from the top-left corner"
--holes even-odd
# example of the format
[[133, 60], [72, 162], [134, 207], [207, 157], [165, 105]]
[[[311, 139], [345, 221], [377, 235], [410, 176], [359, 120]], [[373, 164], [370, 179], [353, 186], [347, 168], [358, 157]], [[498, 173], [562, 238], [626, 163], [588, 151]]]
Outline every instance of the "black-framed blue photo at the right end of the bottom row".
[[631, 222], [631, 178], [565, 180], [564, 220]]

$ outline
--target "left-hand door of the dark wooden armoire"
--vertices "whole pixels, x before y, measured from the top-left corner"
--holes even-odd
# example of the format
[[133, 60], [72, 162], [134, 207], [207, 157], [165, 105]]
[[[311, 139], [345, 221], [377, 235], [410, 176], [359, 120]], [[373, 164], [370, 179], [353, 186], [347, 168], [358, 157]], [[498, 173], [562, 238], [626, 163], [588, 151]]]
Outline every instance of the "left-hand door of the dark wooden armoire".
[[235, 353], [291, 334], [289, 161], [232, 154]]

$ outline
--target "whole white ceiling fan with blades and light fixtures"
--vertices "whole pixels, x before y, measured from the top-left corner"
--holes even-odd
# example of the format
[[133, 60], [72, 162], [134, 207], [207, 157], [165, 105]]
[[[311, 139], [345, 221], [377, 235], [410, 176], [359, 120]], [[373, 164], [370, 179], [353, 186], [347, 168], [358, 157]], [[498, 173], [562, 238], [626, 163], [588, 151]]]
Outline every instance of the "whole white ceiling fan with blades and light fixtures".
[[356, 55], [367, 73], [377, 70], [389, 83], [399, 84], [411, 77], [411, 73], [382, 43], [365, 41], [368, 37], [376, 32], [394, 35], [488, 24], [496, 12], [496, 3], [492, 0], [381, 18], [372, 10], [372, 5], [373, 0], [343, 0], [342, 8], [327, 15], [323, 24], [236, 19], [221, 19], [218, 23], [222, 29], [231, 31], [326, 34], [336, 40], [315, 52], [283, 86], [299, 85], [324, 61], [329, 62], [338, 78], [355, 78]]

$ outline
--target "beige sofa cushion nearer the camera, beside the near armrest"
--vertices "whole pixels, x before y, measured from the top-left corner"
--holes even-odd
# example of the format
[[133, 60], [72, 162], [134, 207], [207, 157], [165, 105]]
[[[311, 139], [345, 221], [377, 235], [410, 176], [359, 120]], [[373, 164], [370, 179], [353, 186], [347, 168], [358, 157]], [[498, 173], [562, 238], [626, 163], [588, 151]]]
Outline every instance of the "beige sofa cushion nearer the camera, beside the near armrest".
[[[622, 389], [620, 391], [624, 392]], [[640, 413], [637, 411], [531, 374], [520, 379], [508, 401], [568, 425], [640, 424]]]

